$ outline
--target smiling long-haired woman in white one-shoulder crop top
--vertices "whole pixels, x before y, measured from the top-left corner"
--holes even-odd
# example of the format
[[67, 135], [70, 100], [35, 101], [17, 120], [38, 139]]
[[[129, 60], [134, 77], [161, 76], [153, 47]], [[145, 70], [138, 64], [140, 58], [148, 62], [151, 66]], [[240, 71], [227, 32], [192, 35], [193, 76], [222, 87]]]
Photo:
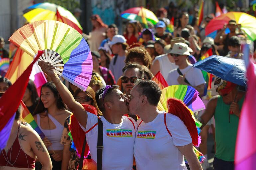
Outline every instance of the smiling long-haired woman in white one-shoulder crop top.
[[47, 147], [55, 170], [61, 170], [63, 145], [60, 144], [60, 140], [64, 122], [70, 114], [54, 83], [47, 82], [42, 85], [39, 103], [33, 117], [45, 134], [45, 138], [42, 140]]

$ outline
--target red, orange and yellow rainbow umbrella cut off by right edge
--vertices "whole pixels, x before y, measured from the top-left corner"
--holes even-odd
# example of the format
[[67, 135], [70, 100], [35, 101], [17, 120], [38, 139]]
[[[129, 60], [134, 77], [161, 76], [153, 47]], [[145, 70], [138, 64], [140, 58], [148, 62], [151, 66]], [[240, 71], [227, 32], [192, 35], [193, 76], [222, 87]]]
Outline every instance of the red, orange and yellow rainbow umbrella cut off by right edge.
[[216, 36], [216, 32], [222, 29], [229, 20], [235, 20], [241, 24], [241, 29], [247, 34], [248, 39], [256, 40], [256, 18], [244, 12], [228, 12], [212, 19], [205, 29], [206, 36]]

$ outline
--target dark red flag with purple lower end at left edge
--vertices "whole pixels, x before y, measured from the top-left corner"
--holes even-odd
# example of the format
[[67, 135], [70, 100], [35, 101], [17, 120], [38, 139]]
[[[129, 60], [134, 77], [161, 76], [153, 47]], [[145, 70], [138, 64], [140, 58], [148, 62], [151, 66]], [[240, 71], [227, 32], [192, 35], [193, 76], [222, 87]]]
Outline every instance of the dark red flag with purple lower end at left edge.
[[0, 98], [0, 150], [5, 148], [6, 143], [10, 137], [11, 128], [15, 118], [15, 112], [17, 111], [21, 99], [25, 93], [33, 64], [38, 60], [42, 53], [43, 51], [38, 51], [38, 55], [35, 60]]

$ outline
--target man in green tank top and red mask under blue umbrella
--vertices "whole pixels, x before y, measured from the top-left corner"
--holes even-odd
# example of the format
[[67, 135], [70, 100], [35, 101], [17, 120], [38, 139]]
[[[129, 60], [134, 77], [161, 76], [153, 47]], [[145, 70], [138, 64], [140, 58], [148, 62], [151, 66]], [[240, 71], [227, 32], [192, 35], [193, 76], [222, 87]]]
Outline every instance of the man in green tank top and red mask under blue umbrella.
[[240, 111], [245, 98], [245, 91], [239, 85], [216, 78], [214, 88], [219, 95], [212, 97], [199, 118], [202, 127], [214, 116], [216, 154], [213, 161], [215, 170], [233, 170], [235, 142]]

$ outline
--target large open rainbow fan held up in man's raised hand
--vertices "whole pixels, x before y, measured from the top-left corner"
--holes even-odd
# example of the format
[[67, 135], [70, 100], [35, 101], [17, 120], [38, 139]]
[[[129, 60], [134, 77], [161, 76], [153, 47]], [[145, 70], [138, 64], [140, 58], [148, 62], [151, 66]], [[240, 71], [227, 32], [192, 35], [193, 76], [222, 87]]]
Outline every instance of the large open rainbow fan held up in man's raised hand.
[[54, 71], [83, 91], [92, 74], [92, 57], [85, 39], [74, 28], [62, 22], [41, 20], [19, 28], [10, 42], [34, 57], [44, 51], [40, 60], [51, 63]]

